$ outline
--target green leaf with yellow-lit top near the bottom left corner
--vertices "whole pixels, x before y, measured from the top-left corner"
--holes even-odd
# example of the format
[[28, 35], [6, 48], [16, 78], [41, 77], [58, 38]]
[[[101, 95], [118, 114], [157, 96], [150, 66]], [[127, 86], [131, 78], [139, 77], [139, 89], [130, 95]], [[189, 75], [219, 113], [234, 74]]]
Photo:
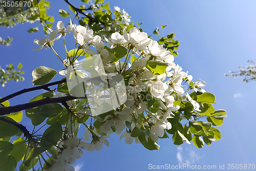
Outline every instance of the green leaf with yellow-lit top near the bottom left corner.
[[25, 139], [22, 137], [15, 139], [12, 143], [14, 145], [14, 148], [12, 149], [10, 155], [12, 155], [15, 158], [16, 162], [18, 162], [25, 155], [27, 144]]

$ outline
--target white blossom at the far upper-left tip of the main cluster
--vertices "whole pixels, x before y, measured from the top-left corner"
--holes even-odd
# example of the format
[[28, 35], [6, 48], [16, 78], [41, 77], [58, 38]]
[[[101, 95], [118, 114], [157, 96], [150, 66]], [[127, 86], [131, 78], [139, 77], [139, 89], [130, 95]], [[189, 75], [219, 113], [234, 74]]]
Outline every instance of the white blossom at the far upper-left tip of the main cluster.
[[45, 46], [45, 48], [47, 48], [47, 47], [49, 48], [49, 46], [52, 46], [52, 45], [53, 45], [53, 42], [54, 42], [55, 40], [58, 40], [58, 39], [61, 37], [61, 35], [59, 35], [58, 37], [56, 37], [56, 36], [57, 36], [57, 33], [58, 33], [58, 31], [57, 31], [57, 30], [54, 30], [54, 31], [52, 31], [52, 32], [50, 33], [49, 38], [46, 38], [46, 39], [35, 39], [35, 40], [34, 40], [34, 43], [37, 44], [37, 45], [41, 45], [41, 46], [35, 48], [35, 49], [32, 50], [32, 51], [39, 51], [39, 50], [41, 50], [41, 48], [42, 48], [43, 46]]

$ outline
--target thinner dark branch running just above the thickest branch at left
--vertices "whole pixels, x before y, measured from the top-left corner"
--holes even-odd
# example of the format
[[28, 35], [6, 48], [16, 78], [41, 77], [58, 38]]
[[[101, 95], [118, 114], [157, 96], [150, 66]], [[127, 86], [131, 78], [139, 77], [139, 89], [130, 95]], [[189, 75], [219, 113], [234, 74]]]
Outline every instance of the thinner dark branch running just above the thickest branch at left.
[[48, 84], [37, 86], [37, 87], [25, 88], [23, 90], [20, 90], [18, 92], [15, 92], [15, 93], [12, 93], [10, 95], [7, 95], [7, 96], [3, 97], [2, 99], [0, 99], [0, 104], [5, 102], [5, 101], [7, 101], [7, 100], [9, 100], [9, 99], [11, 99], [12, 97], [15, 97], [17, 95], [23, 94], [25, 92], [39, 90], [39, 89], [45, 89], [47, 91], [51, 91], [49, 86], [53, 86], [53, 85], [60, 84], [60, 83], [65, 83], [65, 82], [67, 82], [66, 78], [63, 79], [63, 80], [60, 80], [60, 81], [56, 81], [56, 82], [53, 82], [53, 83], [48, 83]]

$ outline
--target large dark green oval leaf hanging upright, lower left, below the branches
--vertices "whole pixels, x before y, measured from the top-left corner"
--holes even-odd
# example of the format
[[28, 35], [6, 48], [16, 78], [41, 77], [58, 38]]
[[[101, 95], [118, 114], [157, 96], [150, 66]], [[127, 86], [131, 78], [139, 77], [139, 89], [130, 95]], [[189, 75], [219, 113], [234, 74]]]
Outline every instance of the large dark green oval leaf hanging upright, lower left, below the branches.
[[57, 144], [62, 136], [62, 127], [59, 123], [55, 123], [46, 129], [41, 138], [41, 146], [50, 149], [52, 145]]

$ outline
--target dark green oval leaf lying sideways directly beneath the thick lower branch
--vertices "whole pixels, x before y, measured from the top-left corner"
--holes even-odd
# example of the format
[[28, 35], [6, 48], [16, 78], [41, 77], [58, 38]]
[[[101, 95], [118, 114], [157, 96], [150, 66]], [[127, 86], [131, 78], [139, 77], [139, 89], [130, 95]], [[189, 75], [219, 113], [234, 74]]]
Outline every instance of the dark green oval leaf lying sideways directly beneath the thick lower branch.
[[61, 113], [63, 110], [62, 106], [57, 103], [41, 105], [38, 107], [37, 114], [45, 117], [54, 117]]

